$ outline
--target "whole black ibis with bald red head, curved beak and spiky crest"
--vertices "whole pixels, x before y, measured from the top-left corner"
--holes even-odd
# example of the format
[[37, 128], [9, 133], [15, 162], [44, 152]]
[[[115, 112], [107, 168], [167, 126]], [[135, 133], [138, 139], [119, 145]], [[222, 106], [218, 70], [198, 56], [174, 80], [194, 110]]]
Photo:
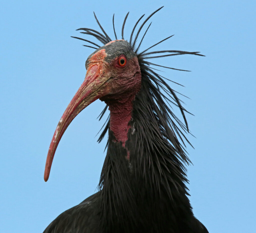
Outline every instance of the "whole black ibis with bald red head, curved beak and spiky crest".
[[[143, 22], [141, 19], [145, 14], [142, 15], [127, 40], [124, 39], [124, 26], [129, 12], [124, 17], [121, 39], [116, 36], [114, 15], [114, 40], [105, 32], [95, 13], [102, 32], [91, 28], [77, 29], [102, 45], [73, 37], [89, 43], [84, 46], [95, 51], [86, 60], [86, 77], [53, 135], [44, 179], [49, 178], [56, 148], [70, 122], [98, 99], [106, 103], [99, 118], [107, 109], [110, 111], [98, 140], [101, 142], [108, 135], [106, 157], [98, 192], [60, 214], [44, 233], [208, 232], [194, 216], [188, 199], [186, 166], [191, 162], [186, 152], [186, 144], [190, 144], [186, 134], [190, 130], [185, 113], [189, 112], [179, 99], [182, 94], [168, 84], [169, 81], [176, 82], [158, 73], [159, 68], [182, 69], [152, 62], [153, 58], [204, 55], [181, 50], [152, 50], [173, 35], [140, 52], [151, 23], [140, 40], [139, 34], [160, 9], [162, 7]], [[174, 114], [174, 107], [181, 112], [183, 120]]]

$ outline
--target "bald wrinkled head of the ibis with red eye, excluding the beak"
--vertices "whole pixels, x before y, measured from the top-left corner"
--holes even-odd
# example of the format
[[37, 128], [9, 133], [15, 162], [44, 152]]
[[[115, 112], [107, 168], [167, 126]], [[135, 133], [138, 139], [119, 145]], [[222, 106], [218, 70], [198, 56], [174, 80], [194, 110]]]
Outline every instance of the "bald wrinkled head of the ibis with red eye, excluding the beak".
[[120, 98], [140, 89], [140, 65], [126, 40], [113, 40], [97, 49], [88, 57], [86, 69], [85, 85], [100, 99]]

